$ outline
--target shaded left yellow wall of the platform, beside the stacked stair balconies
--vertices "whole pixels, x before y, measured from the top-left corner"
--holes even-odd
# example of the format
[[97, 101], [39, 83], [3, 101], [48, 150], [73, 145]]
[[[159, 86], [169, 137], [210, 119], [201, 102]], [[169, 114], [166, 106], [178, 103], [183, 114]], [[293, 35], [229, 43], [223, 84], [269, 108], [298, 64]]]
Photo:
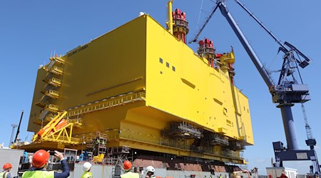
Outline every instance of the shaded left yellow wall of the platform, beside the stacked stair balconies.
[[59, 103], [63, 109], [143, 88], [146, 19], [134, 19], [64, 58]]

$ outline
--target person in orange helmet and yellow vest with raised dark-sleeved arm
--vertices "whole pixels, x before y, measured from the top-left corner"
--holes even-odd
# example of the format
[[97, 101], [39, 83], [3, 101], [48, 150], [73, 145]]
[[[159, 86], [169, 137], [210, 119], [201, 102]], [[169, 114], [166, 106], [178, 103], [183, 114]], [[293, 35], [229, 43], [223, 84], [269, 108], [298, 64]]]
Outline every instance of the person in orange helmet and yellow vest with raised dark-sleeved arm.
[[38, 150], [34, 153], [32, 157], [32, 167], [22, 174], [22, 178], [36, 178], [36, 177], [45, 177], [45, 178], [66, 178], [69, 176], [69, 167], [66, 159], [63, 158], [61, 152], [54, 151], [54, 155], [58, 157], [61, 161], [61, 167], [63, 172], [58, 173], [54, 171], [47, 171], [49, 161], [49, 152], [46, 150]]

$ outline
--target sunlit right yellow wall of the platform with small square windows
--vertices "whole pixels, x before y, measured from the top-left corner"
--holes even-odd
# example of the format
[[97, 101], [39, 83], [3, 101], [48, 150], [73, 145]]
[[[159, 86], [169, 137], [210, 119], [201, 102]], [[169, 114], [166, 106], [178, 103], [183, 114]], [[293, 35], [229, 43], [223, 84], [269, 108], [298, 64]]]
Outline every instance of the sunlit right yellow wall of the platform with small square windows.
[[[207, 130], [226, 130], [225, 135], [253, 144], [250, 115], [235, 114], [233, 98], [248, 108], [238, 90], [233, 95], [228, 73], [210, 68], [183, 42], [156, 21], [147, 21], [146, 105], [176, 115]], [[240, 106], [238, 106], [240, 107]], [[240, 123], [239, 123], [240, 122]]]

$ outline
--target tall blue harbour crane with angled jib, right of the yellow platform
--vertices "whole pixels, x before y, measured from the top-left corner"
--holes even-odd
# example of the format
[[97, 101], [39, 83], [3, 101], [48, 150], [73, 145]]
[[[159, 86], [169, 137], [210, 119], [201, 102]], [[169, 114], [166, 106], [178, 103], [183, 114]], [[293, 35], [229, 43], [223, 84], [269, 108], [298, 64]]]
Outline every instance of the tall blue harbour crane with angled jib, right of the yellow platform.
[[277, 108], [280, 108], [282, 114], [283, 126], [285, 129], [285, 137], [287, 140], [287, 147], [283, 146], [282, 142], [273, 142], [273, 149], [275, 152], [275, 160], [277, 166], [282, 167], [283, 161], [292, 161], [292, 160], [312, 160], [315, 162], [315, 174], [320, 174], [320, 166], [317, 163], [317, 155], [315, 150], [300, 150], [297, 145], [297, 137], [295, 135], [295, 125], [292, 117], [291, 107], [294, 103], [305, 103], [310, 100], [309, 89], [307, 85], [300, 80], [295, 78], [294, 73], [300, 75], [299, 66], [305, 68], [310, 64], [310, 58], [301, 53], [295, 46], [285, 41], [282, 43], [279, 39], [274, 36], [271, 31], [269, 31], [261, 21], [259, 21], [253, 13], [251, 13], [240, 1], [235, 0], [250, 16], [260, 24], [260, 26], [279, 44], [279, 51], [284, 53], [282, 68], [280, 69], [280, 77], [277, 83], [272, 80], [270, 73], [267, 71], [265, 66], [262, 65], [258, 56], [253, 51], [253, 48], [248, 43], [248, 40], [245, 38], [243, 32], [240, 30], [240, 27], [233, 19], [233, 16], [228, 11], [226, 6], [226, 0], [217, 0], [216, 6], [213, 8], [209, 18], [205, 21], [202, 28], [198, 32], [197, 36], [193, 38], [190, 43], [195, 42], [200, 33], [203, 31], [205, 25], [210, 20], [210, 17], [213, 16], [216, 9], [220, 9], [221, 14], [233, 28], [234, 33], [238, 37], [240, 43], [242, 43], [245, 51], [250, 56], [250, 59], [254, 63], [255, 67], [259, 71], [261, 77], [265, 81], [268, 90], [272, 95], [272, 102], [277, 103]]

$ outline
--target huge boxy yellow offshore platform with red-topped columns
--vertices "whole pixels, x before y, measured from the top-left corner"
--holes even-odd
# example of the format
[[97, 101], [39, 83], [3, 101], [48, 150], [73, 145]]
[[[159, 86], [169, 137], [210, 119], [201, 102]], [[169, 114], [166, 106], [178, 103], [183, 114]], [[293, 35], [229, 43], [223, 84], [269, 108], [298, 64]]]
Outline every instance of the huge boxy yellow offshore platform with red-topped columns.
[[144, 14], [50, 58], [36, 78], [34, 142], [22, 148], [82, 150], [105, 135], [107, 147], [245, 163], [253, 132], [248, 98], [233, 85], [233, 51], [195, 53], [176, 13], [168, 28]]

